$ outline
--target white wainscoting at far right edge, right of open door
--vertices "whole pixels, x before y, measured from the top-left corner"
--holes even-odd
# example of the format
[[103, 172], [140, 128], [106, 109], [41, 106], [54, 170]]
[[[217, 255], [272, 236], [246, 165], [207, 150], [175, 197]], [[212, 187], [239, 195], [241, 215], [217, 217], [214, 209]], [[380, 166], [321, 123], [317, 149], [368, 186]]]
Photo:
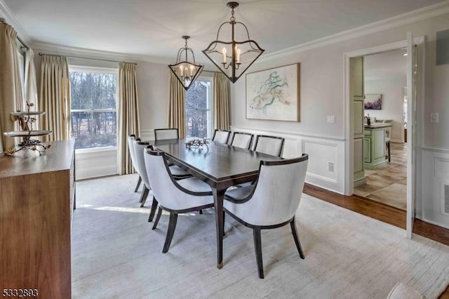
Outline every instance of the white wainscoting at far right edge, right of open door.
[[449, 186], [449, 151], [423, 148], [422, 220], [449, 228], [446, 186]]

